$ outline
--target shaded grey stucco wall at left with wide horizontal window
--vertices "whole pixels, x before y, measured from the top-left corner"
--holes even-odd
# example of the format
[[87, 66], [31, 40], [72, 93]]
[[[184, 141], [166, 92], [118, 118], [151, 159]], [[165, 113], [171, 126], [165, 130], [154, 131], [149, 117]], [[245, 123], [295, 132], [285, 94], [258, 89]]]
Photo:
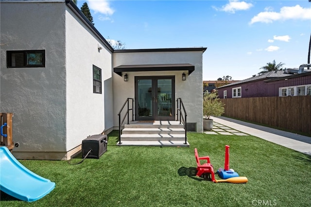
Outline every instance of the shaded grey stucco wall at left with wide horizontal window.
[[[14, 113], [13, 153], [64, 152], [65, 3], [1, 2], [0, 11], [0, 111]], [[8, 50], [45, 50], [46, 67], [7, 68]]]

